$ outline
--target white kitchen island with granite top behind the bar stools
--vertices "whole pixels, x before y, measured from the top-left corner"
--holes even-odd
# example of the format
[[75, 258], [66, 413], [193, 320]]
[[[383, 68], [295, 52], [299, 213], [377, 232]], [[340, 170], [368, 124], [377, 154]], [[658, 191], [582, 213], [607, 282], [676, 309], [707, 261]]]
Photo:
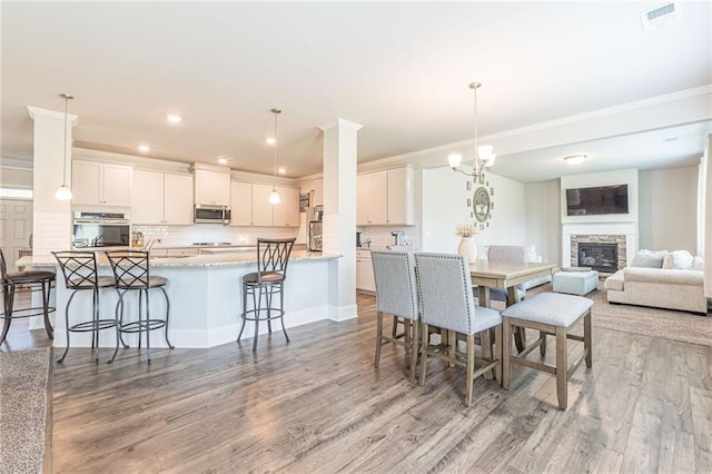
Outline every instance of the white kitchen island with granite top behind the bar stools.
[[[285, 326], [294, 327], [322, 319], [333, 319], [329, 307], [329, 279], [337, 274], [340, 256], [319, 251], [293, 250], [285, 280]], [[99, 275], [112, 275], [103, 253], [98, 254]], [[65, 287], [63, 276], [53, 256], [23, 257], [18, 265], [34, 268], [53, 267], [58, 270], [55, 314], [56, 347], [66, 347], [65, 306], [71, 294]], [[170, 300], [168, 337], [176, 347], [207, 348], [235, 342], [239, 333], [243, 310], [241, 278], [257, 270], [255, 251], [219, 253], [215, 255], [165, 254], [150, 258], [150, 275], [168, 278], [166, 292]], [[138, 295], [125, 297], [125, 320], [136, 320]], [[113, 317], [118, 295], [112, 288], [100, 292], [101, 317]], [[165, 302], [160, 292], [151, 292], [151, 313], [161, 315]], [[79, 292], [70, 307], [70, 324], [87, 319], [91, 314], [91, 292]], [[284, 342], [280, 327], [276, 337]], [[162, 330], [162, 329], [161, 329]], [[254, 334], [247, 322], [243, 338]], [[260, 334], [267, 324], [259, 325]], [[136, 347], [138, 337], [125, 334], [123, 339]], [[113, 347], [112, 330], [100, 334], [101, 347]], [[72, 333], [71, 347], [91, 347], [89, 333]], [[160, 330], [151, 333], [151, 347], [167, 347]]]

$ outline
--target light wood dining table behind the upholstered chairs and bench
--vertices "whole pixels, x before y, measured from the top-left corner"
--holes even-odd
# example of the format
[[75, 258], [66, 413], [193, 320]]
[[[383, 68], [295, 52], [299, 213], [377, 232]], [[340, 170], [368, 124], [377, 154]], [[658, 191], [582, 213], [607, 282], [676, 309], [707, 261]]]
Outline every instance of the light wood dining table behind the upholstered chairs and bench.
[[[479, 306], [491, 307], [490, 288], [504, 288], [507, 290], [506, 306], [520, 302], [516, 286], [544, 276], [552, 275], [555, 265], [538, 261], [490, 261], [475, 260], [469, 264], [469, 277], [472, 285], [479, 292]], [[517, 328], [518, 329], [518, 328]], [[524, 334], [516, 330], [514, 343], [518, 352], [524, 350]]]

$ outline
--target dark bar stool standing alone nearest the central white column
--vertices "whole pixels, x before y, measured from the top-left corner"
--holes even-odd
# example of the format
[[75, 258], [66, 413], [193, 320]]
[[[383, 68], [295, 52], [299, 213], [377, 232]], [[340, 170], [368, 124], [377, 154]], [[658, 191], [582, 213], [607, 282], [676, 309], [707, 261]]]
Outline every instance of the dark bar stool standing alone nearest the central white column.
[[[281, 330], [285, 333], [287, 343], [289, 336], [285, 329], [284, 309], [284, 285], [287, 278], [287, 263], [289, 254], [296, 238], [289, 239], [257, 239], [257, 271], [243, 277], [243, 327], [237, 340], [240, 340], [245, 322], [255, 322], [255, 338], [253, 340], [253, 352], [257, 352], [257, 336], [260, 319], [267, 320], [267, 327], [271, 333], [271, 320], [281, 320]], [[247, 309], [247, 296], [253, 297], [253, 309]], [[273, 297], [279, 296], [279, 307], [273, 306]], [[263, 299], [265, 306], [263, 306]], [[263, 316], [265, 314], [265, 316]]]

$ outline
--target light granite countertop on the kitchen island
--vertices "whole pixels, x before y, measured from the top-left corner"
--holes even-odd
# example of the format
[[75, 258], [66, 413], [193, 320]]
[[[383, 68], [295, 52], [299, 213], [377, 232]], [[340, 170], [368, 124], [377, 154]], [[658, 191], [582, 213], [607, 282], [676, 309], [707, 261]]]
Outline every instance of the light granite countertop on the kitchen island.
[[[328, 254], [322, 251], [293, 250], [289, 261], [308, 260], [332, 260], [340, 258], [339, 254]], [[106, 255], [99, 254], [97, 260], [100, 267], [109, 266]], [[219, 253], [215, 255], [181, 255], [167, 254], [156, 255], [150, 259], [151, 268], [159, 267], [220, 267], [220, 266], [243, 266], [255, 265], [257, 258], [254, 253], [236, 251]], [[24, 267], [57, 267], [57, 259], [52, 255], [22, 257], [17, 261], [18, 266]]]

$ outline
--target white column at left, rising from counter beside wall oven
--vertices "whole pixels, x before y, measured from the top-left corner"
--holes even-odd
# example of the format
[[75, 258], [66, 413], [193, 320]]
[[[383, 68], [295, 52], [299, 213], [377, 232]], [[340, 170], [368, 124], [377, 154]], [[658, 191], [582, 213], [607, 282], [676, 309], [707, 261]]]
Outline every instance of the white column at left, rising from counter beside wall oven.
[[71, 248], [71, 201], [55, 198], [55, 192], [62, 184], [65, 165], [71, 188], [71, 130], [77, 116], [68, 115], [65, 140], [63, 112], [29, 106], [27, 109], [34, 120], [32, 254], [49, 255]]

